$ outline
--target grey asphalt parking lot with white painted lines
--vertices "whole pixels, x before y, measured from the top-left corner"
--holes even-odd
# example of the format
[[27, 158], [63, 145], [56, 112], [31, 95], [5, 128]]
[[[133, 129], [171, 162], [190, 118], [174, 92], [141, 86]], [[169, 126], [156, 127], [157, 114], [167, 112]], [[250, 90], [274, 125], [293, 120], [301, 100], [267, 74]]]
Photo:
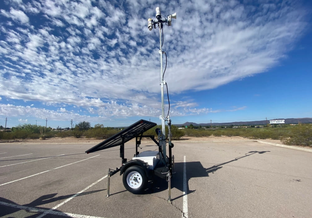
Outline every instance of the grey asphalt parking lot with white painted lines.
[[[119, 147], [0, 144], [1, 217], [311, 217], [312, 153], [255, 141], [175, 142], [172, 204], [155, 178], [142, 195], [123, 186]], [[125, 157], [135, 152], [126, 143]], [[142, 149], [155, 150], [151, 140]], [[185, 192], [183, 194], [183, 192]]]

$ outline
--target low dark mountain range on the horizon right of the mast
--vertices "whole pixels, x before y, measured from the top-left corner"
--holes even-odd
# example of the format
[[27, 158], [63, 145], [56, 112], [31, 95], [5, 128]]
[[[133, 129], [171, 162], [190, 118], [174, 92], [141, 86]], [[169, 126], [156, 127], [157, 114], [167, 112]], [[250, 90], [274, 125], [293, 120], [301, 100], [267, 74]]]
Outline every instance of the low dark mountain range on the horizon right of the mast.
[[[285, 120], [285, 124], [298, 124], [298, 123], [312, 123], [312, 118], [276, 118], [271, 120]], [[270, 120], [261, 120], [261, 121], [241, 121], [241, 122], [231, 122], [231, 123], [192, 123], [192, 122], [185, 122], [183, 124], [174, 124], [174, 126], [226, 126], [226, 125], [266, 125], [270, 123]]]

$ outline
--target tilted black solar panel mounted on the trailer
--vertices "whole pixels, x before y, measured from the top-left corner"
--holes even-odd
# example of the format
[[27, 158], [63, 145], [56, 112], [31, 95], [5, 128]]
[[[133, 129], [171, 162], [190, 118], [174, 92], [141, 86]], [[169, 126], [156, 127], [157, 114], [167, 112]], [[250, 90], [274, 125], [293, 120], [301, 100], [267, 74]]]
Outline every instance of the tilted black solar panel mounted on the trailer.
[[85, 153], [89, 154], [95, 151], [100, 151], [107, 148], [112, 148], [118, 145], [122, 145], [122, 138], [124, 137], [124, 143], [135, 138], [136, 136], [144, 133], [145, 131], [156, 126], [156, 123], [149, 122], [146, 120], [139, 120], [138, 122], [132, 124], [126, 129], [120, 131], [119, 133], [111, 136], [110, 138], [102, 141], [101, 143], [95, 145], [93, 148], [85, 151]]

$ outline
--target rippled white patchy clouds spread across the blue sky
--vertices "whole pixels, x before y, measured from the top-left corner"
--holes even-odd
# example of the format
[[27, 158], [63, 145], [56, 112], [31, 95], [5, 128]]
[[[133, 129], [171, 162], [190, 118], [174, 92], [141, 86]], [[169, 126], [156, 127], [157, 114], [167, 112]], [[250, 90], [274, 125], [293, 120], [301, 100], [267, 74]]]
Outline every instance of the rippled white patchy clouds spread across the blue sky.
[[[158, 63], [149, 62], [159, 56], [158, 34], [146, 27], [157, 6], [178, 14], [163, 47], [173, 94], [264, 72], [303, 34], [307, 13], [293, 1], [241, 2], [4, 1], [1, 96], [42, 107], [0, 104], [0, 110], [55, 120], [158, 116]], [[178, 116], [217, 112], [180, 99], [173, 105]]]

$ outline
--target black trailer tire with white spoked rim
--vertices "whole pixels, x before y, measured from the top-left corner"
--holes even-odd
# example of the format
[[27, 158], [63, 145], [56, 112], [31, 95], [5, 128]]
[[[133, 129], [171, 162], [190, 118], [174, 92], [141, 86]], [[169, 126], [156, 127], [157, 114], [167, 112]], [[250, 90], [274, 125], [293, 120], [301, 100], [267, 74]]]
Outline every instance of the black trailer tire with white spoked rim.
[[124, 172], [122, 182], [124, 187], [133, 194], [140, 194], [144, 191], [148, 178], [142, 167], [131, 166]]

